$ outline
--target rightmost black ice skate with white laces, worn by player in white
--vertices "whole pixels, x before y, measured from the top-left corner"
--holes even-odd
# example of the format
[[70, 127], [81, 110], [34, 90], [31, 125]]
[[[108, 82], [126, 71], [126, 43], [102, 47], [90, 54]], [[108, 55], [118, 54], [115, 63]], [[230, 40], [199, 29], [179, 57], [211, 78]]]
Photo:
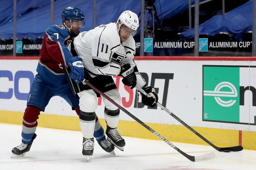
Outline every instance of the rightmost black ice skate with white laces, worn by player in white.
[[125, 139], [120, 136], [116, 128], [107, 127], [106, 130], [107, 140], [115, 145], [119, 150], [124, 151]]

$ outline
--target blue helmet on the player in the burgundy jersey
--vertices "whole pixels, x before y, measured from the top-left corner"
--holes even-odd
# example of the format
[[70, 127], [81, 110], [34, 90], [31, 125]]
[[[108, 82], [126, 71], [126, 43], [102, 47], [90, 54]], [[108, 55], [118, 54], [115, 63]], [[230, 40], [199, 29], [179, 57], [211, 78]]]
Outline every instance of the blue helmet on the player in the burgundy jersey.
[[85, 15], [83, 12], [76, 7], [67, 7], [62, 12], [62, 23], [65, 23], [65, 20], [73, 22], [73, 20], [84, 20]]

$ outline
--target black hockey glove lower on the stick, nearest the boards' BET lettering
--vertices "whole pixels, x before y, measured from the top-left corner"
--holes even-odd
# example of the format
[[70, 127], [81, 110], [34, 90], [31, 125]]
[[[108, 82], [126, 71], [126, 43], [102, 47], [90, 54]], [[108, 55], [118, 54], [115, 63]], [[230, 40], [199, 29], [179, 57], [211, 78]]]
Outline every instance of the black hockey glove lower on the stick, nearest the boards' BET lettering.
[[156, 107], [156, 104], [158, 102], [158, 95], [154, 88], [152, 87], [145, 87], [142, 88], [146, 93], [149, 94], [150, 97], [147, 97], [146, 95], [142, 94], [142, 103], [144, 105], [148, 105], [150, 107]]

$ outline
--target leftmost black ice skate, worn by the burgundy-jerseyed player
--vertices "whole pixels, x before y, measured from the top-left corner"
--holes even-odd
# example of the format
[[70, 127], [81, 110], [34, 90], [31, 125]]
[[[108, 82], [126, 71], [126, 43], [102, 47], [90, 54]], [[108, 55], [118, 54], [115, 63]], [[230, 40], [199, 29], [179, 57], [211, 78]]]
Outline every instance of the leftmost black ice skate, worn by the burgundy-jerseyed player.
[[12, 149], [12, 156], [11, 158], [17, 158], [26, 155], [26, 152], [28, 152], [31, 148], [31, 145], [36, 138], [36, 134], [34, 133], [31, 142], [29, 144], [21, 143], [21, 145], [16, 146]]

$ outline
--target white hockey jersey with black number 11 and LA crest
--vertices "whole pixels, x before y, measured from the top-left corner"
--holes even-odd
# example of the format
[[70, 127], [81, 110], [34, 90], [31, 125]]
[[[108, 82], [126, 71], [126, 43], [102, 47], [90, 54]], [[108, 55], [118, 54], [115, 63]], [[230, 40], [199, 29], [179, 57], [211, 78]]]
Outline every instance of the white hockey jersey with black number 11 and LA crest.
[[130, 64], [135, 70], [137, 85], [143, 87], [146, 84], [133, 60], [135, 41], [129, 37], [121, 43], [116, 23], [81, 32], [74, 39], [74, 48], [90, 76], [119, 75], [121, 66]]

